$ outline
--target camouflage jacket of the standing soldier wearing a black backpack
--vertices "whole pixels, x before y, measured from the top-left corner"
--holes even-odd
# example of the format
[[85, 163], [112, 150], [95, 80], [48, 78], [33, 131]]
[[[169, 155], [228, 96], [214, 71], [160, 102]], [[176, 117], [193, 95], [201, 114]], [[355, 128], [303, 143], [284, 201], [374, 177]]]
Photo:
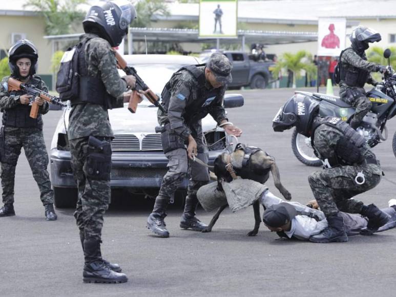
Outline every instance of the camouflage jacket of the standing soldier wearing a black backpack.
[[[87, 42], [84, 50], [88, 75], [100, 77], [106, 91], [117, 98], [115, 105], [122, 107], [122, 93], [127, 90], [127, 82], [118, 74], [115, 53], [107, 40], [95, 34], [81, 35], [80, 40], [85, 36], [93, 37]], [[99, 104], [77, 104], [70, 112], [68, 137], [75, 139], [90, 135], [114, 137], [109, 114]]]

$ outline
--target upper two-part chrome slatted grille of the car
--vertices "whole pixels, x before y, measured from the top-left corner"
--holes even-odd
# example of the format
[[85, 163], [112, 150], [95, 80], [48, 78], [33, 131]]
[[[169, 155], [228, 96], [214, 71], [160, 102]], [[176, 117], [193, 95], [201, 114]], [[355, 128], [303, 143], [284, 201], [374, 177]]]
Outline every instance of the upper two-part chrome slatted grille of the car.
[[112, 150], [116, 151], [162, 151], [161, 135], [148, 134], [142, 140], [140, 147], [140, 140], [135, 135], [115, 135], [112, 144]]

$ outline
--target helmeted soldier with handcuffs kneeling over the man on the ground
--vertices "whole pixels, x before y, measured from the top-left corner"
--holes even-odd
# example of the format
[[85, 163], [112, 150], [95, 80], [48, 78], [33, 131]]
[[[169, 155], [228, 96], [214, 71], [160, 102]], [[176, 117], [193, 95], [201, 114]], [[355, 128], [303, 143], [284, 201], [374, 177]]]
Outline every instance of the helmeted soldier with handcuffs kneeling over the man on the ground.
[[312, 147], [324, 165], [324, 170], [311, 174], [308, 181], [328, 226], [309, 240], [320, 243], [348, 241], [340, 210], [367, 217], [367, 227], [361, 234], [371, 235], [388, 221], [389, 216], [374, 204], [365, 206], [351, 198], [379, 184], [380, 163], [364, 137], [347, 123], [335, 117], [321, 118], [318, 113], [316, 101], [296, 94], [281, 108], [273, 123], [276, 132], [295, 126], [298, 133], [311, 137]]

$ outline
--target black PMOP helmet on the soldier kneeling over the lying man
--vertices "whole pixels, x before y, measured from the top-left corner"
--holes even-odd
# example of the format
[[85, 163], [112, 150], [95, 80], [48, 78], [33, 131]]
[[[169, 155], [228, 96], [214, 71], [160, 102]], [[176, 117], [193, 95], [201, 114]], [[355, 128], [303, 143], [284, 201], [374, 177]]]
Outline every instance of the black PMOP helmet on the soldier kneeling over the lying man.
[[303, 94], [296, 94], [280, 108], [272, 128], [275, 132], [283, 132], [295, 126], [298, 133], [309, 137], [312, 121], [318, 113], [318, 102]]

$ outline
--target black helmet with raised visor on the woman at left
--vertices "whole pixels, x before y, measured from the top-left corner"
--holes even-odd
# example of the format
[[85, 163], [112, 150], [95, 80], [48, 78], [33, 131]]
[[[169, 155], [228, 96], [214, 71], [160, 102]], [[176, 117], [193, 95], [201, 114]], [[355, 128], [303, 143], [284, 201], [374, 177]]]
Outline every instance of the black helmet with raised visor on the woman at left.
[[30, 66], [29, 75], [33, 75], [37, 71], [38, 54], [36, 47], [28, 40], [21, 39], [16, 41], [8, 51], [8, 67], [11, 75], [19, 77], [19, 68], [16, 66], [16, 61], [20, 58], [29, 58], [32, 65]]

